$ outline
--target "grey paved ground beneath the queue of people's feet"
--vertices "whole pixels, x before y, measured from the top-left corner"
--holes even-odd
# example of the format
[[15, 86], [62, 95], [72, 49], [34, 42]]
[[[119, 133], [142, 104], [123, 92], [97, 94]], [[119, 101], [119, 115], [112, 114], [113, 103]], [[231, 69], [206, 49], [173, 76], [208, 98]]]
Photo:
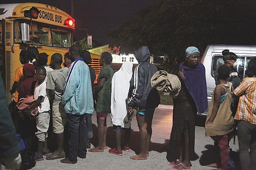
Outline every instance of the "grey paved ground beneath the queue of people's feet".
[[[204, 124], [203, 117], [199, 117], [197, 124]], [[96, 114], [92, 116], [94, 138], [91, 141], [91, 146], [97, 146], [97, 123]], [[78, 158], [77, 164], [62, 164], [60, 159], [57, 160], [42, 160], [36, 163], [33, 170], [166, 170], [172, 169], [167, 160], [169, 152], [170, 133], [172, 130], [172, 106], [160, 106], [156, 109], [152, 122], [152, 138], [150, 144], [150, 152], [147, 160], [131, 160], [130, 156], [139, 153], [139, 130], [136, 119], [131, 123], [131, 141], [130, 152], [123, 151], [123, 156], [110, 154], [108, 150], [101, 153], [87, 152], [86, 159]], [[115, 147], [114, 134], [112, 131], [112, 124], [110, 116], [107, 118], [107, 146], [109, 148]], [[192, 161], [191, 170], [210, 170], [212, 168], [205, 165], [207, 162], [214, 160], [213, 156], [213, 140], [204, 136], [204, 127], [196, 126], [195, 151], [199, 159]], [[238, 150], [238, 141], [233, 144], [230, 142], [230, 147], [233, 151]], [[235, 153], [237, 154], [237, 152]], [[200, 165], [201, 164], [201, 165]]]

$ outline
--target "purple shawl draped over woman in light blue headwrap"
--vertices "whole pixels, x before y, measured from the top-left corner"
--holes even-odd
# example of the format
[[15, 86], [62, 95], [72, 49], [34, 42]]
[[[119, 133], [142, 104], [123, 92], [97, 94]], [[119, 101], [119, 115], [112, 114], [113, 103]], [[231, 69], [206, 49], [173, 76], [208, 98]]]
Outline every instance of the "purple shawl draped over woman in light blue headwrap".
[[184, 82], [196, 103], [197, 111], [198, 113], [203, 113], [208, 108], [204, 65], [198, 63], [196, 68], [190, 68], [186, 66], [185, 63], [181, 63], [179, 71], [182, 69], [184, 73]]

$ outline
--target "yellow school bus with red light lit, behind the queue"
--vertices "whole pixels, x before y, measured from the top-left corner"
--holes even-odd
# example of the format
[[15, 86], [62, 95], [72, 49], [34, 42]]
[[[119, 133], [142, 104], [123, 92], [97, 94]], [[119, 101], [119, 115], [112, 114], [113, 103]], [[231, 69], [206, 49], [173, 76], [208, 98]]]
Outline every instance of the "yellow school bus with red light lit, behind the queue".
[[[64, 56], [73, 45], [75, 19], [55, 6], [41, 3], [0, 4], [0, 19], [0, 72], [10, 101], [13, 77], [21, 66], [20, 51], [37, 47], [39, 53], [49, 55], [48, 64], [54, 53]], [[96, 73], [100, 71], [99, 58], [92, 55]]]

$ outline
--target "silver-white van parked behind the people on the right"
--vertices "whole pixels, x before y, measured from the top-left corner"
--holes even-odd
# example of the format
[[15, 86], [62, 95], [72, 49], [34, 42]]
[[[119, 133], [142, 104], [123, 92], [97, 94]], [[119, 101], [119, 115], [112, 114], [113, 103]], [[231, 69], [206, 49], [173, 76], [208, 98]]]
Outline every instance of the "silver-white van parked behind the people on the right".
[[[245, 71], [248, 62], [256, 56], [256, 45], [207, 45], [203, 53], [201, 63], [206, 69], [207, 100], [208, 106], [211, 103], [211, 93], [215, 88], [214, 72], [220, 65], [224, 64], [222, 51], [229, 50], [237, 55], [237, 72], [241, 79], [245, 78]], [[208, 109], [202, 115], [207, 115]]]

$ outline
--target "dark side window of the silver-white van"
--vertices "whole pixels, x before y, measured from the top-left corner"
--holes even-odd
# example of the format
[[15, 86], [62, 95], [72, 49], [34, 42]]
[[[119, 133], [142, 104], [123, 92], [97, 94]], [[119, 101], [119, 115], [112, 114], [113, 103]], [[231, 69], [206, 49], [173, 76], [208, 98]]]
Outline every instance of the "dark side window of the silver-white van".
[[[253, 59], [254, 57], [248, 56], [238, 56], [237, 58], [237, 67], [236, 70], [241, 79], [244, 79], [246, 76], [246, 69], [248, 62]], [[217, 72], [220, 65], [224, 64], [222, 56], [215, 55], [212, 59], [212, 77], [215, 77], [215, 72]]]

